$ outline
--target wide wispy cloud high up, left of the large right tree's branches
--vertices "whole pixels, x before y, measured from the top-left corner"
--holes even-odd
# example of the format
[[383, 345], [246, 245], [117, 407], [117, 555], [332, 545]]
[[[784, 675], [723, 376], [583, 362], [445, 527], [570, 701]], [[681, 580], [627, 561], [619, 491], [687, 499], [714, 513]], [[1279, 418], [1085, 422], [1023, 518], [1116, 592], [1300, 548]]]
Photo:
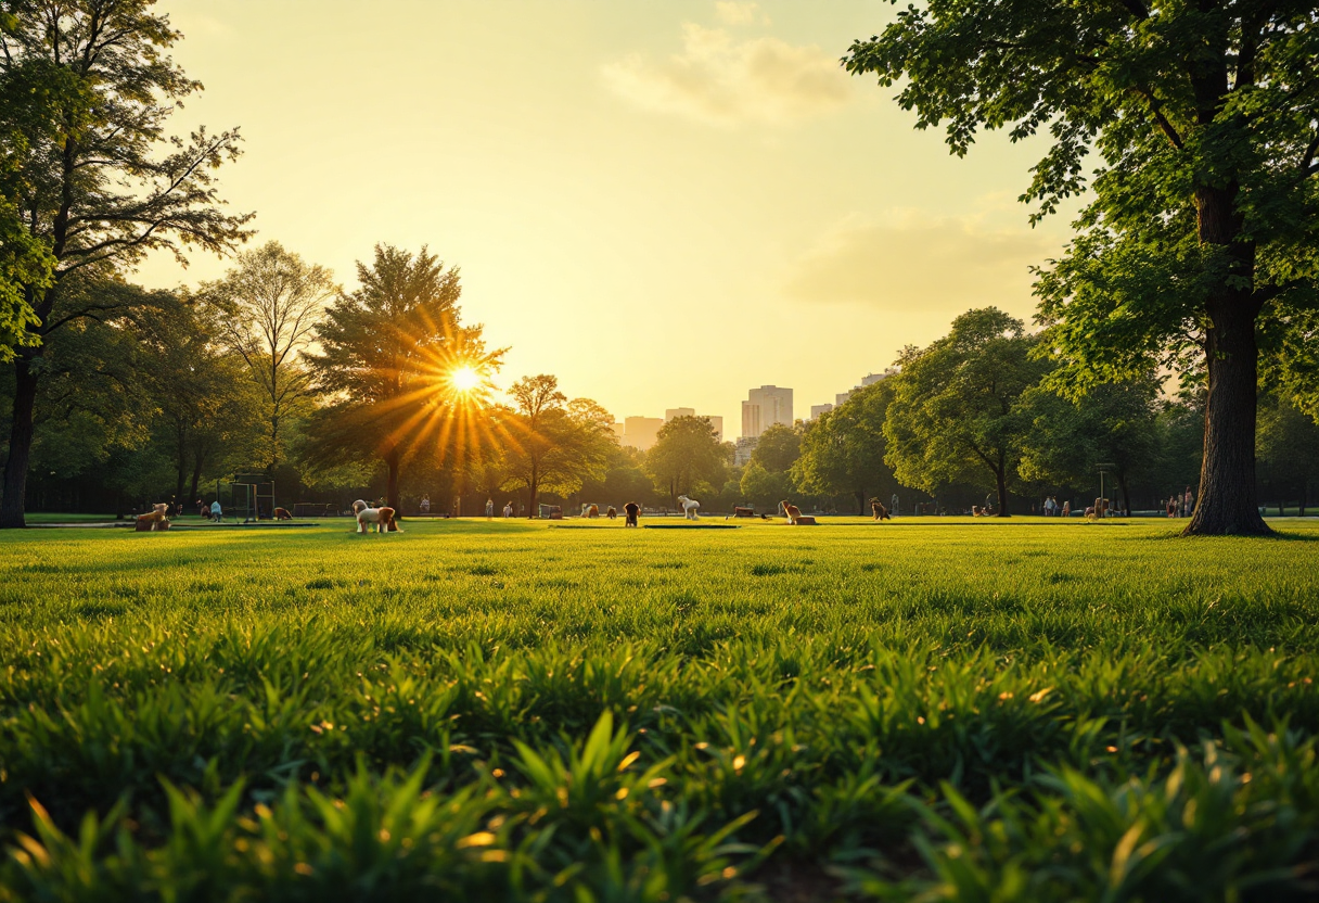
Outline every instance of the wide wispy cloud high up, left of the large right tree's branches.
[[838, 61], [818, 46], [740, 41], [691, 22], [682, 28], [682, 53], [662, 62], [632, 54], [601, 74], [640, 107], [718, 125], [803, 119], [840, 106], [852, 91]]

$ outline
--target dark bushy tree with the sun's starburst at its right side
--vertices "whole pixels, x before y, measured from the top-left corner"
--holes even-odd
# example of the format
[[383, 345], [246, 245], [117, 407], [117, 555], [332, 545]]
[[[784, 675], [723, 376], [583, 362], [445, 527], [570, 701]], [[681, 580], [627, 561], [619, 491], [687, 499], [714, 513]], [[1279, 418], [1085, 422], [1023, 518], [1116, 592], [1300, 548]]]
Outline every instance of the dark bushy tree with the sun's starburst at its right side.
[[[305, 454], [321, 466], [379, 458], [398, 508], [405, 462], [445, 445], [458, 445], [462, 462], [480, 457], [472, 445], [485, 430], [470, 436], [455, 417], [483, 407], [479, 389], [504, 351], [485, 350], [480, 326], [459, 325], [458, 269], [425, 247], [414, 256], [377, 244], [369, 267], [357, 263], [357, 281], [317, 327], [321, 354], [307, 355], [330, 403], [307, 424]], [[462, 368], [483, 382], [455, 387]]]

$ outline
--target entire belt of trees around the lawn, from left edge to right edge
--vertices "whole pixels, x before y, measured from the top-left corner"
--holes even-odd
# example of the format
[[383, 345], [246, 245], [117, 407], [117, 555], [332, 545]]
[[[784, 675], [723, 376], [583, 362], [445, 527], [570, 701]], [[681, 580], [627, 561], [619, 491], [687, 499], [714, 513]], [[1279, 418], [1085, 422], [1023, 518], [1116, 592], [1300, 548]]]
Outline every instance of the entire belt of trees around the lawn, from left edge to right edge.
[[197, 290], [135, 285], [150, 252], [252, 238], [215, 185], [239, 132], [169, 136], [200, 84], [152, 0], [0, 1], [0, 527], [29, 507], [193, 503], [253, 470], [284, 500], [404, 510], [686, 494], [864, 511], [898, 494], [1000, 514], [1087, 500], [1103, 470], [1120, 508], [1194, 486], [1187, 532], [1268, 532], [1260, 502], [1308, 506], [1316, 479], [1316, 30], [1306, 5], [1208, 8], [934, 4], [856, 42], [848, 69], [901, 82], [955, 153], [979, 128], [1047, 127], [1037, 217], [1089, 203], [1038, 273], [1038, 333], [968, 312], [736, 467], [702, 418], [620, 448], [553, 375], [495, 397], [504, 352], [425, 247], [376, 247], [352, 290], [278, 243]]

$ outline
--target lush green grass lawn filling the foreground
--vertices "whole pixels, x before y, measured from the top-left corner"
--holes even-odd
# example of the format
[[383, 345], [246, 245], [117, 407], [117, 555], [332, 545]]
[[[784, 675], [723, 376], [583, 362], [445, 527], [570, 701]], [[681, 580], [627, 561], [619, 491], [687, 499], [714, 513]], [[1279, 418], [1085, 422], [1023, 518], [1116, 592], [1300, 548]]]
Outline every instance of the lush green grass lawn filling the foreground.
[[1319, 525], [0, 535], [4, 900], [1310, 900]]

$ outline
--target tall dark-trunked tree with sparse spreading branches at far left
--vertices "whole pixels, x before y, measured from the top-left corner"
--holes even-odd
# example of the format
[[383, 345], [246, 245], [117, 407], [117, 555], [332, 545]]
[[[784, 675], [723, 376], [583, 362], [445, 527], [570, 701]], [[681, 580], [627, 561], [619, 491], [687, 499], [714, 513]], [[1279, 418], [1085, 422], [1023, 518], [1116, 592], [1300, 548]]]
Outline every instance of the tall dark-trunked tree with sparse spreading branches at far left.
[[[106, 317], [123, 297], [62, 300], [73, 273], [109, 279], [149, 251], [181, 260], [187, 247], [227, 252], [248, 236], [247, 215], [220, 211], [214, 170], [237, 156], [236, 131], [199, 128], [169, 140], [170, 114], [200, 84], [166, 51], [181, 37], [152, 0], [66, 0], [9, 5], [0, 24], [0, 79], [28, 79], [49, 116], [4, 148], [5, 190], [46, 248], [53, 275], [20, 267], [11, 280], [32, 317], [13, 360], [13, 416], [0, 527], [24, 525], [42, 345], [57, 330]], [[29, 78], [30, 77], [30, 78]], [[49, 128], [47, 128], [49, 125]], [[161, 150], [165, 150], [161, 153]], [[49, 288], [46, 284], [49, 283]]]

